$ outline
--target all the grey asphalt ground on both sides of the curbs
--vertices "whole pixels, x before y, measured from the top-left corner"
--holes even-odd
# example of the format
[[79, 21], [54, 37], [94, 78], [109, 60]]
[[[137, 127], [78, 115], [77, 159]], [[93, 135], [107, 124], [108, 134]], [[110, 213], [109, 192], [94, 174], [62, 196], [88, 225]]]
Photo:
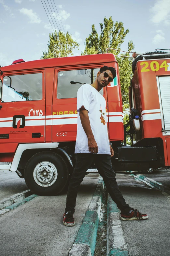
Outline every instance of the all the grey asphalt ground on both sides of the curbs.
[[[159, 170], [145, 176], [170, 184], [170, 171]], [[1, 175], [1, 172], [0, 172]], [[24, 179], [4, 171], [1, 182], [7, 184], [4, 195], [11, 196], [26, 190]], [[117, 173], [119, 188], [129, 205], [149, 218], [144, 221], [122, 221], [129, 256], [167, 256], [170, 252], [169, 212], [170, 196], [151, 188], [128, 173]], [[60, 196], [37, 196], [28, 203], [0, 217], [1, 256], [66, 256], [99, 179], [98, 174], [87, 175], [80, 185], [76, 212], [76, 225], [65, 227], [62, 222], [66, 193]], [[6, 183], [5, 183], [6, 182]], [[1, 186], [1, 183], [0, 183]], [[23, 186], [23, 187], [22, 187]], [[24, 187], [25, 186], [25, 187]], [[1, 191], [3, 191], [1, 187]], [[3, 197], [4, 198], [4, 197]], [[41, 208], [41, 209], [40, 209]]]

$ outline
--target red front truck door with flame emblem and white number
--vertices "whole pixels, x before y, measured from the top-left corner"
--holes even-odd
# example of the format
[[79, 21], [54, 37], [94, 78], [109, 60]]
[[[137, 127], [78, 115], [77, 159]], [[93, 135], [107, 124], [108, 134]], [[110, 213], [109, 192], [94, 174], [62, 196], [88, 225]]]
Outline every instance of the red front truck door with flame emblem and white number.
[[1, 79], [0, 143], [44, 142], [44, 70], [8, 72]]

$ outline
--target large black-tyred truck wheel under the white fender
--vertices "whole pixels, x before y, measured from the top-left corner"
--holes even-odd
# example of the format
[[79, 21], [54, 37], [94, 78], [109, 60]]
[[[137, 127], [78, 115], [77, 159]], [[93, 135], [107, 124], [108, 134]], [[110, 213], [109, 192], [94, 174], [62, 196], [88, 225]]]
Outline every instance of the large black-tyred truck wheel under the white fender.
[[39, 152], [27, 162], [24, 178], [34, 194], [55, 196], [64, 190], [68, 179], [68, 166], [54, 152]]

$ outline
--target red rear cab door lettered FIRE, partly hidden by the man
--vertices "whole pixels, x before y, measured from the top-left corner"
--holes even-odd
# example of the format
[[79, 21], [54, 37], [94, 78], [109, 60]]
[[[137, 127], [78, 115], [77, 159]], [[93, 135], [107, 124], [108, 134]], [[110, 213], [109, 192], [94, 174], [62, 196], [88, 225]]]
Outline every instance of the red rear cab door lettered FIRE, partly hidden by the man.
[[[52, 141], [76, 141], [77, 91], [83, 83], [92, 84], [103, 65], [55, 69], [52, 104]], [[104, 91], [100, 93], [103, 95]], [[106, 95], [104, 95], [106, 97]]]

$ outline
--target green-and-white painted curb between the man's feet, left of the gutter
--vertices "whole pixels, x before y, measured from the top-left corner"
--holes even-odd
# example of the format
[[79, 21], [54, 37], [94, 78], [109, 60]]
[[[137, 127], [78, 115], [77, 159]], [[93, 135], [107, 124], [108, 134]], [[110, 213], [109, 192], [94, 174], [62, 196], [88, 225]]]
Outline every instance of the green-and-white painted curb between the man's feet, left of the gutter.
[[94, 255], [103, 191], [104, 182], [101, 177], [68, 256]]

